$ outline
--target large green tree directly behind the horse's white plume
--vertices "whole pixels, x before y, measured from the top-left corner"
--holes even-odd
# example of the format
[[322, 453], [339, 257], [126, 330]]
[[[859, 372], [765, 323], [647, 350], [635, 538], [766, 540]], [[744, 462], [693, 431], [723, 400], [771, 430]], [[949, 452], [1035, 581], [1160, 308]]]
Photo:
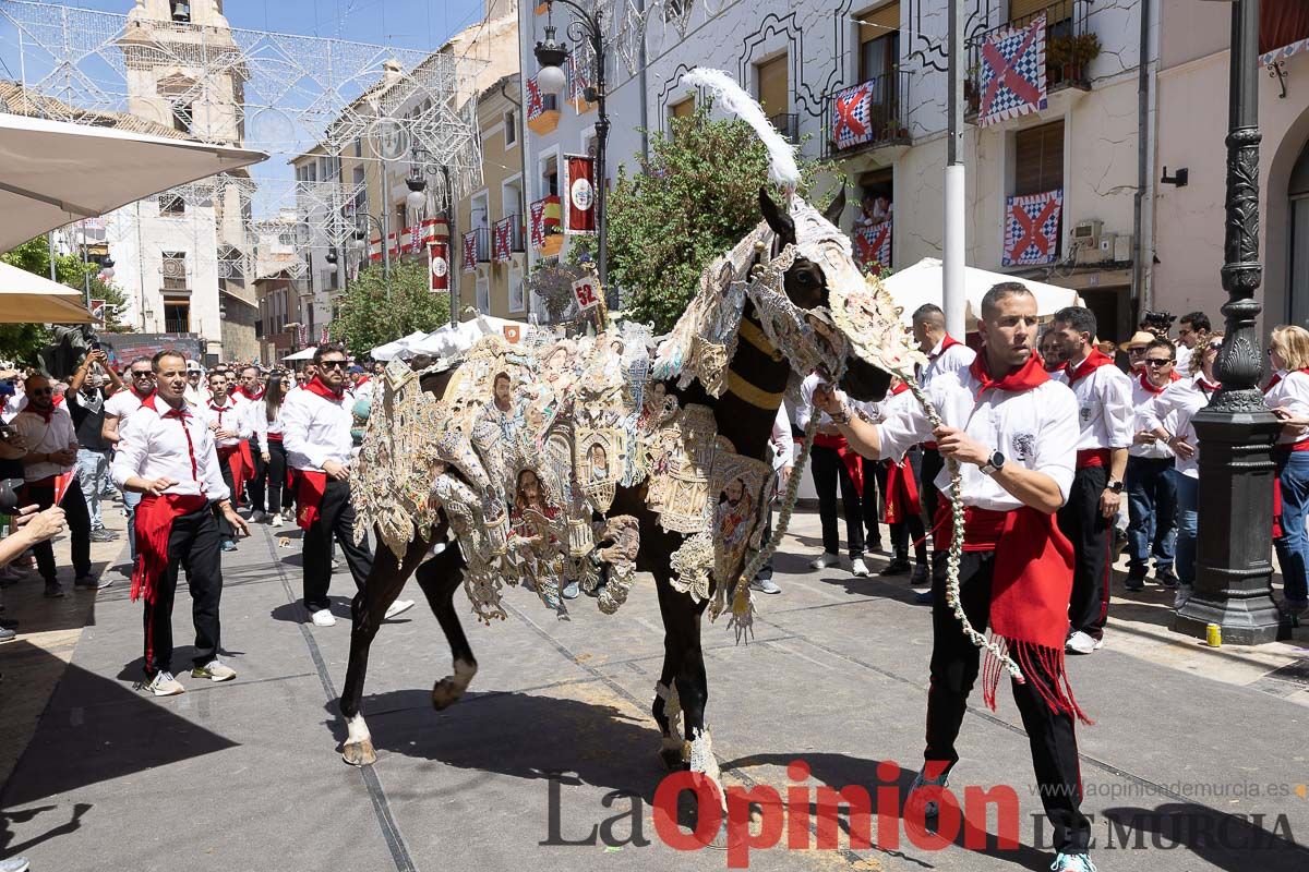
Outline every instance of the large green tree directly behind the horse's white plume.
[[[609, 195], [609, 280], [623, 289], [630, 318], [664, 332], [686, 310], [704, 267], [761, 220], [768, 150], [745, 122], [712, 120], [702, 106], [674, 118], [670, 136], [652, 135], [640, 169], [630, 176], [620, 166]], [[800, 171], [804, 193], [831, 167], [801, 161]]]

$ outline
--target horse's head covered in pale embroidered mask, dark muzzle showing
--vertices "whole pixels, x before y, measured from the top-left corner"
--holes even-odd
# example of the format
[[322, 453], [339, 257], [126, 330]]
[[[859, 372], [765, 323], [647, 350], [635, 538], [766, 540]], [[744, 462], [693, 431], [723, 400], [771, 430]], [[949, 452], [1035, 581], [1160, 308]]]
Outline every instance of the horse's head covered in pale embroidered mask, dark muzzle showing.
[[864, 277], [850, 239], [836, 227], [844, 207], [844, 187], [826, 213], [798, 196], [792, 197], [787, 213], [766, 190], [759, 190], [759, 209], [776, 235], [774, 252], [788, 244], [796, 250], [783, 281], [787, 297], [812, 312], [809, 323], [830, 346], [843, 349], [840, 388], [855, 400], [881, 400], [891, 371], [912, 371], [916, 349], [890, 298], [880, 282]]

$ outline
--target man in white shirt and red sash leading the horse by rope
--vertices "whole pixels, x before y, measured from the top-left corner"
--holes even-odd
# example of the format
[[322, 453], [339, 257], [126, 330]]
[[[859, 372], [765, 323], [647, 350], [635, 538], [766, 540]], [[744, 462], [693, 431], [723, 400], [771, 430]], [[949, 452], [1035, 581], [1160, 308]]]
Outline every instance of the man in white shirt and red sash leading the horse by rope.
[[[933, 379], [928, 391], [942, 418], [932, 429], [918, 403], [891, 403], [880, 425], [844, 408], [829, 386], [814, 392], [850, 444], [865, 456], [899, 460], [911, 446], [932, 438], [942, 456], [959, 464], [963, 531], [949, 514], [942, 544], [963, 535], [959, 601], [973, 628], [991, 633], [1022, 663], [1024, 682], [1013, 696], [1030, 739], [1033, 766], [1059, 851], [1056, 872], [1085, 872], [1090, 822], [1081, 813], [1081, 782], [1073, 718], [1083, 718], [1064, 673], [1067, 608], [1072, 590], [1068, 541], [1054, 512], [1073, 484], [1077, 405], [1031, 352], [1037, 301], [1016, 282], [996, 285], [982, 301], [978, 331], [983, 354], [969, 369]], [[937, 485], [948, 494], [949, 476]], [[932, 660], [927, 697], [924, 766], [907, 804], [933, 817], [936, 803], [924, 786], [944, 786], [958, 762], [954, 743], [967, 697], [980, 672], [980, 652], [963, 634], [946, 603], [946, 561], [932, 579]], [[995, 707], [1004, 667], [987, 655], [983, 698]]]

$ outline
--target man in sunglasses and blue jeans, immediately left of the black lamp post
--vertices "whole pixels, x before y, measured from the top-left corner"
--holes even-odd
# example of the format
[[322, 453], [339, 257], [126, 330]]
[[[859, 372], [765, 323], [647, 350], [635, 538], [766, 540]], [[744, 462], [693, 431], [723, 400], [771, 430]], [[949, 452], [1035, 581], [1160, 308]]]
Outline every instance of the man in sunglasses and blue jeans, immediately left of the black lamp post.
[[[1152, 339], [1134, 360], [1140, 371], [1132, 378], [1132, 447], [1127, 450], [1127, 580], [1130, 591], [1145, 588], [1149, 557], [1155, 554], [1155, 580], [1168, 588], [1177, 587], [1173, 560], [1177, 548], [1177, 485], [1173, 476], [1174, 455], [1153, 433], [1155, 397], [1181, 379], [1174, 361], [1173, 344]], [[1175, 428], [1175, 414], [1165, 416], [1164, 428]]]

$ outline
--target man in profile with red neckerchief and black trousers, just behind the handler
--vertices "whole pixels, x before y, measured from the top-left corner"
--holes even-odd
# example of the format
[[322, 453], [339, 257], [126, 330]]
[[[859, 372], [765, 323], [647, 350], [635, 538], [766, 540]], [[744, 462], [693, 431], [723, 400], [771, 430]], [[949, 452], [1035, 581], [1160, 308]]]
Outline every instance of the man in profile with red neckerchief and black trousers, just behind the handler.
[[1114, 571], [1114, 519], [1122, 503], [1127, 448], [1132, 443], [1132, 383], [1114, 358], [1094, 346], [1096, 315], [1081, 306], [1055, 312], [1064, 378], [1077, 397], [1081, 433], [1072, 494], [1059, 510], [1059, 529], [1072, 541], [1076, 573], [1068, 617], [1068, 651], [1090, 654], [1103, 645], [1109, 582]]

